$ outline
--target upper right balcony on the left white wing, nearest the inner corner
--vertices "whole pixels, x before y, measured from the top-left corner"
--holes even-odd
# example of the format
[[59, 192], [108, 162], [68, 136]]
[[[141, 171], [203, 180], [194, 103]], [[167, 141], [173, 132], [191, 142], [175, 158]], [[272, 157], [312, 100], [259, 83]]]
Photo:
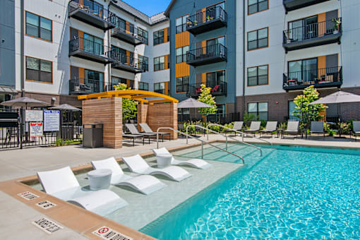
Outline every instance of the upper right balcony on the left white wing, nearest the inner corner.
[[112, 29], [112, 37], [134, 46], [138, 44], [148, 44], [148, 37], [139, 34], [139, 29], [134, 29], [133, 25], [130, 26], [128, 23], [124, 25], [116, 24], [116, 28]]

